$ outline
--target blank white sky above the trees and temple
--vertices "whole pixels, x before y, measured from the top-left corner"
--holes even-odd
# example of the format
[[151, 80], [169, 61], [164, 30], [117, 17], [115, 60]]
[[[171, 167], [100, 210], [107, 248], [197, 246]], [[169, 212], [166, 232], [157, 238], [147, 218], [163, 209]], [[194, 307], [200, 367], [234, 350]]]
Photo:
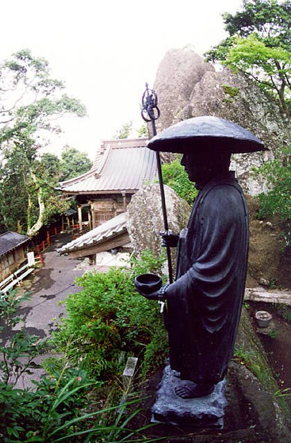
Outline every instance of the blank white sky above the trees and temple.
[[53, 78], [87, 107], [62, 120], [46, 150], [69, 144], [94, 159], [102, 140], [124, 123], [134, 129], [145, 82], [152, 87], [169, 49], [191, 45], [203, 55], [227, 37], [223, 12], [243, 0], [9, 0], [1, 4], [0, 61], [23, 48], [44, 57]]

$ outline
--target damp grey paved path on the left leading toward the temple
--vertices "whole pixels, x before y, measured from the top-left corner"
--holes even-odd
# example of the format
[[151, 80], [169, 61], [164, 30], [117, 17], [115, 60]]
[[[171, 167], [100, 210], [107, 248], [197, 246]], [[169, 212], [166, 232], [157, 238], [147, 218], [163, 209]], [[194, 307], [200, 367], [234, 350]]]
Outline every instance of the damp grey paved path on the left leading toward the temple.
[[[56, 250], [70, 239], [69, 235], [58, 235], [55, 243], [43, 254], [44, 266], [21, 282], [21, 293], [28, 291], [31, 297], [22, 303], [19, 316], [23, 320], [10, 334], [24, 327], [31, 335], [47, 338], [56, 328], [55, 323], [65, 315], [65, 307], [59, 302], [65, 300], [70, 293], [80, 291], [81, 288], [74, 284], [74, 280], [85, 271], [91, 270], [91, 266], [86, 268], [80, 260], [69, 260], [65, 255], [57, 255]], [[35, 363], [40, 363], [46, 356], [40, 355]], [[33, 376], [26, 375], [19, 380], [17, 387], [33, 386], [30, 379], [39, 380], [42, 373], [42, 370], [34, 370]]]

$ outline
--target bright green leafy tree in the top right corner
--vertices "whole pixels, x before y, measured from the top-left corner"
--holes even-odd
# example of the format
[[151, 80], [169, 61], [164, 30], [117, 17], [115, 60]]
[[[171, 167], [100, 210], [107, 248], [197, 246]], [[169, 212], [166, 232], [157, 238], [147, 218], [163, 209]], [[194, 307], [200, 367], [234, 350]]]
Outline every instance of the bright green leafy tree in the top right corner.
[[288, 115], [290, 12], [290, 1], [244, 0], [243, 10], [223, 15], [229, 37], [206, 53], [206, 60], [243, 72], [272, 93]]

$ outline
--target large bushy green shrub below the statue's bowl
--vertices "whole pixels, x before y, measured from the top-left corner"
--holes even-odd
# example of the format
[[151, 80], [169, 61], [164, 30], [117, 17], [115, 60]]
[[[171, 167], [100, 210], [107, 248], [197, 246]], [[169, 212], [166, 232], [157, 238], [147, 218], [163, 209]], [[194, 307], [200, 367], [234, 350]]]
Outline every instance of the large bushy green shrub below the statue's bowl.
[[77, 279], [82, 291], [66, 300], [67, 318], [52, 341], [57, 352], [100, 381], [121, 374], [121, 352], [143, 356], [150, 347], [148, 354], [156, 364], [165, 359], [166, 338], [155, 338], [164, 330], [158, 304], [145, 300], [134, 289], [136, 275], [161, 273], [163, 263], [164, 256], [144, 251], [139, 260], [132, 259], [131, 269], [111, 268], [107, 273], [87, 273]]

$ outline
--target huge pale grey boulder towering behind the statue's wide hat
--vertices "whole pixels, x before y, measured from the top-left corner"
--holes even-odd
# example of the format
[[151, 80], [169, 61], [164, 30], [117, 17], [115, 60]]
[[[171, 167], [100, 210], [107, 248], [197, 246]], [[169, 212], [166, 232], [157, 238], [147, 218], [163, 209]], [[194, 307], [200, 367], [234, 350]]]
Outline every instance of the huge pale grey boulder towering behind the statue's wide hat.
[[[154, 85], [159, 97], [161, 131], [187, 118], [210, 115], [238, 123], [254, 133], [276, 156], [288, 145], [288, 117], [254, 82], [229, 69], [215, 72], [210, 63], [189, 49], [168, 51], [159, 65]], [[232, 168], [245, 192], [252, 195], [263, 190], [250, 174], [253, 165], [261, 165], [267, 153], [236, 154]]]

